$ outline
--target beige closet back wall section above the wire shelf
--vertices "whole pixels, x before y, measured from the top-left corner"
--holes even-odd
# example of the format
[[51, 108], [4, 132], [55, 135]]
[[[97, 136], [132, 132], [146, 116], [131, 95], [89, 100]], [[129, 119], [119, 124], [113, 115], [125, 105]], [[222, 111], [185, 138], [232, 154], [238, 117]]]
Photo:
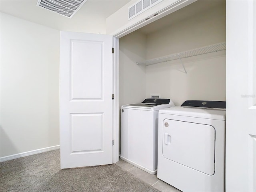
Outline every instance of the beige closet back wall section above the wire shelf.
[[[206, 2], [198, 1], [172, 13], [170, 20], [178, 16], [183, 19], [176, 19], [176, 22], [172, 21], [170, 26], [148, 34], [147, 59], [226, 41], [226, 6], [225, 2], [222, 2], [205, 9], [202, 6]], [[197, 10], [195, 6], [202, 8]], [[184, 16], [190, 9], [194, 9], [194, 12]], [[166, 22], [166, 20], [163, 21]], [[162, 22], [162, 20], [156, 22]]]

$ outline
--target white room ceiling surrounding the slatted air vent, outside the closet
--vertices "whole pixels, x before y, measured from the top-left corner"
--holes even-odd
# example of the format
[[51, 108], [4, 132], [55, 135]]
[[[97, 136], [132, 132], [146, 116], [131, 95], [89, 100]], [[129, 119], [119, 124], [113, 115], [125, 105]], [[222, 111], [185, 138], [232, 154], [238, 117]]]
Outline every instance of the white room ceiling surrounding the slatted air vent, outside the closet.
[[106, 18], [128, 2], [87, 0], [72, 18], [36, 6], [37, 0], [0, 0], [0, 11], [56, 30], [91, 32], [94, 28], [94, 33], [105, 33]]

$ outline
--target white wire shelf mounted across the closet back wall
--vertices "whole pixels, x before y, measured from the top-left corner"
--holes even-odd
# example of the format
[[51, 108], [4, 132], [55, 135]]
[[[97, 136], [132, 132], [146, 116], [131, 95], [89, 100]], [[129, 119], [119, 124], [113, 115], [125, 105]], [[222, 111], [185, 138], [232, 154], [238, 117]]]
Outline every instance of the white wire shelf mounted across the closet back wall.
[[167, 62], [167, 61], [172, 61], [172, 60], [177, 60], [182, 58], [198, 56], [198, 55], [207, 54], [207, 53], [218, 52], [222, 50], [226, 50], [226, 42], [217, 43], [217, 44], [196, 48], [196, 49], [192, 49], [184, 52], [179, 52], [179, 53], [171, 54], [165, 57], [147, 60], [144, 62], [137, 62], [137, 65], [140, 65], [140, 64], [152, 65], [152, 64], [157, 64], [157, 63], [162, 63], [162, 62]]

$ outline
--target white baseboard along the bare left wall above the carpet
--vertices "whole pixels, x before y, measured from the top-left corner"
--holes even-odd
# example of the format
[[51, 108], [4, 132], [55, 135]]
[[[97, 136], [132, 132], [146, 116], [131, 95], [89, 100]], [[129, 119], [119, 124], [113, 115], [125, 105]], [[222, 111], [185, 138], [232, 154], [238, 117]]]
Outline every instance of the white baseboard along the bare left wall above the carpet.
[[46, 148], [42, 148], [42, 149], [36, 149], [36, 150], [32, 150], [32, 151], [18, 153], [18, 154], [14, 154], [14, 155], [9, 155], [9, 156], [5, 156], [5, 157], [1, 157], [0, 162], [16, 159], [16, 158], [20, 158], [20, 157], [26, 157], [29, 155], [34, 155], [34, 154], [38, 154], [38, 153], [42, 153], [42, 152], [46, 152], [46, 151], [52, 151], [52, 150], [59, 149], [59, 148], [60, 148], [60, 145], [56, 145], [56, 146], [46, 147]]

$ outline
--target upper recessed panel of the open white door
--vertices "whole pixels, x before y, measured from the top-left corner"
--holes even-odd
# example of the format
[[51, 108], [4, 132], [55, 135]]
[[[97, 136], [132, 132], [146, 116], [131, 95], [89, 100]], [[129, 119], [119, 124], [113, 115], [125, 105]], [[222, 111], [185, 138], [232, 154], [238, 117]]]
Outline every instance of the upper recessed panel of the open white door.
[[71, 98], [102, 99], [103, 42], [71, 40], [70, 45]]

